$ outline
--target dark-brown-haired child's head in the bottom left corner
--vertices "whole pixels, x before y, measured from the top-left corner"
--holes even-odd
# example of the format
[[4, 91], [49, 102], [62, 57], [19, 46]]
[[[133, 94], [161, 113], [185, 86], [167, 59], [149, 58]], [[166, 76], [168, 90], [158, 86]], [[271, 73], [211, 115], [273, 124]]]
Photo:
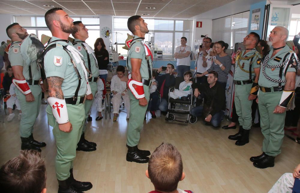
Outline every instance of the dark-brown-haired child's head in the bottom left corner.
[[0, 190], [7, 193], [45, 193], [46, 178], [41, 154], [34, 150], [21, 150], [18, 157], [1, 167]]

